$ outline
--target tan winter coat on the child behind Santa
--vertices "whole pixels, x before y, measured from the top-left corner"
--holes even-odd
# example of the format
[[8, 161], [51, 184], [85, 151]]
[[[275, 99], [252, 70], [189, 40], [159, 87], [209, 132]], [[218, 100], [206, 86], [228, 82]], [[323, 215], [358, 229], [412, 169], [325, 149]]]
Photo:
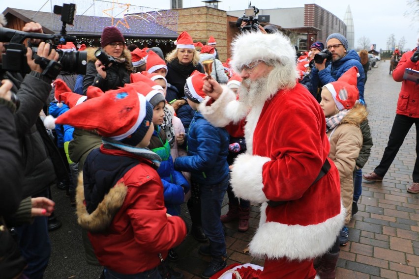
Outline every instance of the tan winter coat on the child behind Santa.
[[351, 220], [354, 181], [352, 172], [355, 160], [362, 147], [362, 133], [359, 125], [367, 118], [365, 106], [355, 105], [336, 129], [327, 133], [330, 142], [329, 158], [333, 160], [340, 175], [340, 197], [346, 208], [345, 224]]

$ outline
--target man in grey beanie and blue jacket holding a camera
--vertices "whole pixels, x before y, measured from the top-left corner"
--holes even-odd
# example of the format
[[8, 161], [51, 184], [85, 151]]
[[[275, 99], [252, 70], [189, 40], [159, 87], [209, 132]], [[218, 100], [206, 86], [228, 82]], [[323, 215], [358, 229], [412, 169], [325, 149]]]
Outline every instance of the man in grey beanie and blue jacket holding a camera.
[[326, 47], [332, 55], [331, 63], [327, 66], [326, 59], [321, 64], [315, 63], [312, 71], [312, 80], [318, 80], [320, 87], [322, 87], [337, 81], [343, 73], [355, 66], [359, 71], [359, 77], [357, 79], [359, 101], [361, 104], [365, 104], [365, 74], [358, 53], [355, 50], [348, 49], [348, 41], [339, 33], [329, 35], [326, 39]]

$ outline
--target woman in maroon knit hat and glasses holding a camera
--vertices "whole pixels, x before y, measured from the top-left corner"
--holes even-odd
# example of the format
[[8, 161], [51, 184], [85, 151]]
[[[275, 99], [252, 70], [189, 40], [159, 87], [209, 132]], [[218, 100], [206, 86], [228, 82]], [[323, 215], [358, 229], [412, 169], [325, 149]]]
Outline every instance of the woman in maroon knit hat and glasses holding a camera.
[[133, 73], [131, 54], [125, 48], [125, 39], [116, 27], [106, 27], [102, 31], [99, 49], [89, 48], [86, 76], [83, 80], [83, 94], [90, 85], [99, 87], [103, 92], [117, 89], [130, 83]]

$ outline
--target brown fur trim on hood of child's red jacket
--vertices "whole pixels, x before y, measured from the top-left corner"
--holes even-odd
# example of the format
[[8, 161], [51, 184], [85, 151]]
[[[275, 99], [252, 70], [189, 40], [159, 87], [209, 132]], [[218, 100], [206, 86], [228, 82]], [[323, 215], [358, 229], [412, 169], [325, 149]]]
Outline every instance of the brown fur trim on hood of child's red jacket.
[[105, 231], [117, 212], [120, 210], [126, 196], [126, 187], [123, 183], [117, 184], [109, 190], [97, 208], [89, 214], [85, 205], [85, 190], [83, 185], [83, 172], [80, 172], [77, 183], [76, 203], [77, 203], [77, 223], [90, 232]]

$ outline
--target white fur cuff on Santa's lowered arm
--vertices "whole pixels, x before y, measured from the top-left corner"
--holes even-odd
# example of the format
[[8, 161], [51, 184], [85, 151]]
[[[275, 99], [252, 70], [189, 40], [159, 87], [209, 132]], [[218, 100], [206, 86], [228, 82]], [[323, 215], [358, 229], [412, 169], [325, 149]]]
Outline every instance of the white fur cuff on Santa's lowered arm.
[[238, 197], [263, 203], [268, 201], [263, 192], [262, 168], [270, 158], [240, 154], [234, 161], [231, 172], [231, 186]]

